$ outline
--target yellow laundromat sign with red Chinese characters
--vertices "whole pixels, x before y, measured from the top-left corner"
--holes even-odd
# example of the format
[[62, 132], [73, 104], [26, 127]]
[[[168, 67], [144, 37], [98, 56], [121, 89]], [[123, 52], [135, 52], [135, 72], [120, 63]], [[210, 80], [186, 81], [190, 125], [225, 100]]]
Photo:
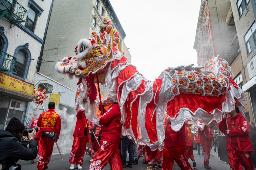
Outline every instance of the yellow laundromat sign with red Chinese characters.
[[34, 85], [0, 73], [0, 87], [32, 95]]

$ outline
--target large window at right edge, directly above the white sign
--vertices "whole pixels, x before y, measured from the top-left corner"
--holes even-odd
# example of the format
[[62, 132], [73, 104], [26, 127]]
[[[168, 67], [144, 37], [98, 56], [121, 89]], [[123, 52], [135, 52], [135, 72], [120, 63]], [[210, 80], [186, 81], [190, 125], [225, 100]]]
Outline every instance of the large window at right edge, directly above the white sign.
[[247, 54], [249, 54], [252, 49], [255, 47], [255, 42], [256, 42], [256, 24], [255, 22], [251, 26], [251, 28], [248, 30], [248, 32], [244, 35], [244, 41], [246, 42], [246, 49], [247, 49]]

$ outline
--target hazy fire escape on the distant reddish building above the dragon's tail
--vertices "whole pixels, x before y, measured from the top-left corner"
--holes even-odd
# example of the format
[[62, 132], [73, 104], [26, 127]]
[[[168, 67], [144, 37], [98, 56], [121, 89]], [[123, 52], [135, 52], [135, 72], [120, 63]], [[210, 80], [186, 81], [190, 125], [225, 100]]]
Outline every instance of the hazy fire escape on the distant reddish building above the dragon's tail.
[[202, 63], [206, 63], [211, 58], [212, 46], [206, 46], [206, 36], [208, 34], [207, 28], [200, 29], [199, 44], [200, 44], [200, 58]]

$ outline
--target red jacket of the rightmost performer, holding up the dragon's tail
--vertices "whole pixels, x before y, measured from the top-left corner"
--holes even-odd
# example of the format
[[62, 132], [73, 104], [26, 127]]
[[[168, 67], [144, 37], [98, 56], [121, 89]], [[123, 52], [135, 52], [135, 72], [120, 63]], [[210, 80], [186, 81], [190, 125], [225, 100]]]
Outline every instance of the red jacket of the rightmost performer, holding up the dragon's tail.
[[[229, 126], [229, 134], [227, 140], [227, 150], [230, 150], [230, 146], [238, 147], [239, 151], [253, 152], [252, 143], [249, 137], [250, 126], [248, 121], [242, 116], [241, 113], [237, 114], [234, 118], [229, 117], [227, 119]], [[222, 119], [219, 123], [219, 130], [223, 134], [227, 134], [226, 120]]]

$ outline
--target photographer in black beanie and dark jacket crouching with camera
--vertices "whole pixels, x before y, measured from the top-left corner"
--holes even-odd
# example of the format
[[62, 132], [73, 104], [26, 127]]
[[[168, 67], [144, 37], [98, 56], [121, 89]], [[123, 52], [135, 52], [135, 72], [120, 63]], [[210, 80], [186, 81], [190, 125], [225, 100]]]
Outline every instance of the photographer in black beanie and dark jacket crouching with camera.
[[0, 130], [1, 170], [20, 170], [21, 165], [16, 164], [19, 159], [29, 161], [37, 157], [37, 142], [34, 140], [36, 131], [33, 129], [31, 133], [27, 133], [28, 138], [23, 139], [24, 131], [25, 125], [16, 117], [10, 119], [5, 130]]

